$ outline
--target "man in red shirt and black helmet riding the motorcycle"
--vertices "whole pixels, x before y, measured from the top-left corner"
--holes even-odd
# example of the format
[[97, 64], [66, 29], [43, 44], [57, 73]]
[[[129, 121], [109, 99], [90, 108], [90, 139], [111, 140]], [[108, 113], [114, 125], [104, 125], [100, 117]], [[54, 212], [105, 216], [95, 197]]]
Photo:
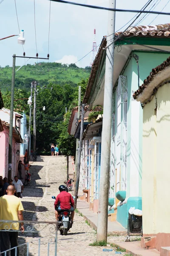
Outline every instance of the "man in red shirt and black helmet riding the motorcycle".
[[[59, 212], [61, 212], [62, 210], [70, 210], [71, 211], [71, 220], [73, 223], [74, 200], [73, 200], [71, 194], [65, 191], [64, 185], [59, 186], [59, 191], [60, 191], [60, 193], [59, 193], [59, 195], [57, 195], [56, 201], [54, 203], [56, 220], [58, 220]], [[59, 205], [59, 202], [60, 202], [60, 205]]]

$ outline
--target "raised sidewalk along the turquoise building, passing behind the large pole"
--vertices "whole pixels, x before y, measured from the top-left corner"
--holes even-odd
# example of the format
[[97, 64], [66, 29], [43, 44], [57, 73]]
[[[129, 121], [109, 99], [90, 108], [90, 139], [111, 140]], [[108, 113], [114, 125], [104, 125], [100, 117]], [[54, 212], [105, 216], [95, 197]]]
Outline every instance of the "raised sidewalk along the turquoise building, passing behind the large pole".
[[[91, 227], [97, 230], [97, 213], [89, 210], [89, 204], [86, 201], [77, 199], [77, 210], [88, 221]], [[127, 230], [117, 221], [108, 221], [108, 234], [126, 235]]]

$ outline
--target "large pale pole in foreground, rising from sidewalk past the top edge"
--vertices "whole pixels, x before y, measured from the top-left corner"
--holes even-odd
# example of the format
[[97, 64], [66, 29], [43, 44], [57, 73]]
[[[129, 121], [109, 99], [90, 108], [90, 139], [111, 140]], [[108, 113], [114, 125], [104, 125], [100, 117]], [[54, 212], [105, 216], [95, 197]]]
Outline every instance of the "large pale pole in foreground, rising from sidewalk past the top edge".
[[[109, 8], [116, 8], [116, 0], [109, 0]], [[115, 35], [115, 12], [112, 11], [108, 12], [108, 35], [110, 36], [108, 36], [107, 45], [111, 45], [106, 50], [99, 209], [97, 215], [97, 241], [107, 241], [108, 235], [108, 192], [111, 153], [111, 113]]]

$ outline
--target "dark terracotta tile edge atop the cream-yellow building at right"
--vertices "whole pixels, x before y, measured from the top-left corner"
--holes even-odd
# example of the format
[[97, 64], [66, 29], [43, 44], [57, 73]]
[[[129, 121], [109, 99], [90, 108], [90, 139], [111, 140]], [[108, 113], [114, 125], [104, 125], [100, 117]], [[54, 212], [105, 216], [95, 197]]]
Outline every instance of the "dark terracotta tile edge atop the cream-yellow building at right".
[[170, 57], [167, 58], [166, 61], [164, 61], [162, 64], [160, 64], [159, 66], [155, 67], [152, 69], [152, 72], [150, 72], [150, 75], [147, 76], [147, 79], [144, 79], [144, 83], [139, 86], [139, 89], [136, 90], [136, 92], [133, 93], [133, 98], [137, 99], [138, 96], [143, 92], [143, 90], [145, 88], [147, 88], [148, 84], [150, 84], [151, 81], [153, 81], [153, 79], [155, 78], [155, 76], [160, 73], [162, 70], [164, 70], [165, 67], [169, 67], [170, 66]]

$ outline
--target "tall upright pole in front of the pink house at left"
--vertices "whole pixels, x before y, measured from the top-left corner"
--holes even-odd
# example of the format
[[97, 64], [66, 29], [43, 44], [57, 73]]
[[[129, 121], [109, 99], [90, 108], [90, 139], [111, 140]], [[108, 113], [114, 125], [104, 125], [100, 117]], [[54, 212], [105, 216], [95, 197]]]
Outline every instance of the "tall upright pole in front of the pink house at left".
[[9, 123], [8, 180], [11, 179], [11, 169], [12, 169], [12, 130], [13, 130], [13, 112], [14, 112], [15, 59], [16, 59], [16, 55], [14, 54], [13, 64], [12, 64], [11, 108], [10, 108], [10, 123]]

